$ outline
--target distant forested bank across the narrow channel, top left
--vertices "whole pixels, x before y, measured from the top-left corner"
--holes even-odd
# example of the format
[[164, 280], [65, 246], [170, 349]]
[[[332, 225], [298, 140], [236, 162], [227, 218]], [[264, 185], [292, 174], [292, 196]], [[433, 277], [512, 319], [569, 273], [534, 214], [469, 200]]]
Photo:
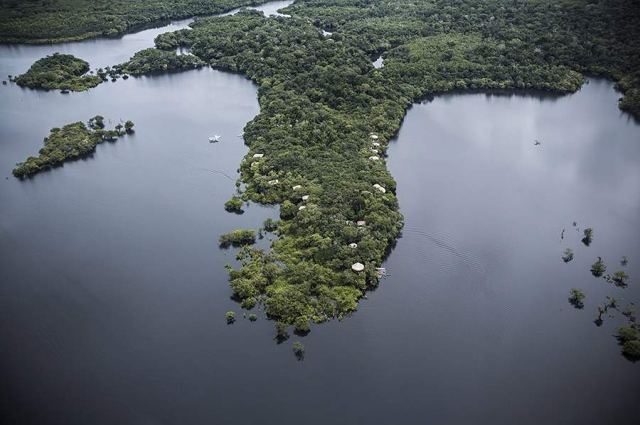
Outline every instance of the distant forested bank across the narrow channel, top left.
[[3, 0], [0, 43], [60, 43], [266, 0]]

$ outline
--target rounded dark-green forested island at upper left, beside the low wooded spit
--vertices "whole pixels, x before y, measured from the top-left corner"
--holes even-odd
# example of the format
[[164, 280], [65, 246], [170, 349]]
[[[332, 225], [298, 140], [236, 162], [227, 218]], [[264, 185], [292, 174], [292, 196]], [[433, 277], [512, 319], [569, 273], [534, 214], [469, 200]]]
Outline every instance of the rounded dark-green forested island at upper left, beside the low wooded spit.
[[32, 89], [61, 89], [83, 92], [96, 87], [102, 78], [85, 75], [89, 72], [89, 63], [73, 55], [53, 53], [36, 60], [27, 72], [18, 75], [13, 81]]

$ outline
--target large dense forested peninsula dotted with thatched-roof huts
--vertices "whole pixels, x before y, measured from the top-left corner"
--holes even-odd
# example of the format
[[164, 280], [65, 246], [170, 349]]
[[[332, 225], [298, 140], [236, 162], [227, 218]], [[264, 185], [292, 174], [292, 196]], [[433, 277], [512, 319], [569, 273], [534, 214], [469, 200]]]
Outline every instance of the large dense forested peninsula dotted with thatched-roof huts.
[[189, 46], [260, 85], [240, 195], [280, 204], [279, 238], [270, 252], [243, 248], [230, 285], [297, 329], [341, 319], [378, 285], [402, 228], [385, 150], [412, 101], [466, 88], [573, 92], [593, 73], [618, 79], [620, 106], [640, 112], [640, 13], [629, 2], [299, 0], [285, 11], [292, 18], [204, 18], [156, 48]]

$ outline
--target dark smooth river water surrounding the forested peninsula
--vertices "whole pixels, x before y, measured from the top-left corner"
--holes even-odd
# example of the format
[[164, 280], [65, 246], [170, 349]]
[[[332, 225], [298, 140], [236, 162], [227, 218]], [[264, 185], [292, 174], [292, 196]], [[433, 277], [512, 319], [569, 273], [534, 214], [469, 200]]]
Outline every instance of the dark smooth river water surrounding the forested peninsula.
[[[0, 75], [55, 51], [122, 62], [187, 22], [0, 46]], [[611, 82], [413, 106], [388, 151], [406, 221], [390, 277], [343, 323], [282, 344], [262, 311], [255, 323], [224, 318], [241, 309], [223, 268], [235, 249], [220, 250], [218, 236], [277, 217], [256, 204], [223, 210], [256, 89], [210, 69], [69, 95], [0, 87], [6, 423], [636, 423], [640, 364], [611, 336], [621, 316], [593, 323], [606, 295], [640, 302], [640, 126], [617, 109]], [[95, 114], [137, 131], [11, 177], [49, 128]], [[590, 248], [572, 221], [594, 228]], [[607, 272], [629, 258], [627, 289], [590, 275], [597, 255]], [[583, 310], [567, 302], [574, 286], [587, 292]]]

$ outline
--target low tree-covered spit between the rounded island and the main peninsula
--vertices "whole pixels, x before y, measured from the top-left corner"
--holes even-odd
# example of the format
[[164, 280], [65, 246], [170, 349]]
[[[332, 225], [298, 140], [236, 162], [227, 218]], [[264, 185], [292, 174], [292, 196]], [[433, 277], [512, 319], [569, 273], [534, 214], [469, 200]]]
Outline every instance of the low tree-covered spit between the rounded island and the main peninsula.
[[193, 55], [178, 55], [155, 48], [140, 50], [127, 62], [114, 65], [119, 72], [145, 74], [154, 71], [180, 70], [201, 67], [204, 62]]

